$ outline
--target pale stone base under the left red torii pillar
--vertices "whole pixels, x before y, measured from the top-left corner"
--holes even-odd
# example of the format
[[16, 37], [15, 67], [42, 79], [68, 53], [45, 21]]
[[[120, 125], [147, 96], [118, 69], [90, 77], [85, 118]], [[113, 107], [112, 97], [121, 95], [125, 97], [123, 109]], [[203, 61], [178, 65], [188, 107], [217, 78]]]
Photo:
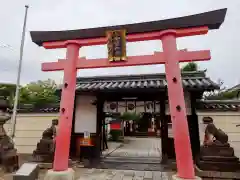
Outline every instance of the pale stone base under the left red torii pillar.
[[68, 169], [66, 171], [53, 171], [49, 170], [44, 178], [44, 180], [74, 180], [73, 169]]

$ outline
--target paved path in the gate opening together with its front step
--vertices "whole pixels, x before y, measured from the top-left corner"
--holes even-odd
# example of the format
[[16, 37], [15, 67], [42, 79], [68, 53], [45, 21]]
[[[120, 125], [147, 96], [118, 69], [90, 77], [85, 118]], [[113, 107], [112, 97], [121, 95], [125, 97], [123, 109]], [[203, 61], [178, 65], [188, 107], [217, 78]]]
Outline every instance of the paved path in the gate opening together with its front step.
[[168, 170], [160, 164], [160, 138], [125, 137], [124, 140], [121, 147], [105, 156], [95, 168], [161, 172]]

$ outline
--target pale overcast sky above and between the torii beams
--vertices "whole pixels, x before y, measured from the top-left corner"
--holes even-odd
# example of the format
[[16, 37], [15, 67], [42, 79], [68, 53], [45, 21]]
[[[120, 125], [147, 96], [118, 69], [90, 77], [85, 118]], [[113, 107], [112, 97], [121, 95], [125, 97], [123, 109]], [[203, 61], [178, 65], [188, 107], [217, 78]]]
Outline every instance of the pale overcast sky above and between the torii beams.
[[[200, 69], [225, 86], [240, 83], [240, 0], [0, 0], [0, 81], [16, 82], [24, 18], [24, 5], [28, 4], [26, 41], [21, 83], [55, 79], [62, 81], [61, 72], [41, 72], [41, 63], [64, 58], [65, 50], [45, 50], [30, 38], [31, 30], [66, 30], [107, 25], [153, 21], [210, 10], [228, 8], [225, 22], [219, 30], [206, 36], [178, 39], [178, 48], [189, 50], [210, 49], [212, 60], [201, 62]], [[11, 48], [3, 45], [10, 45]], [[161, 50], [159, 41], [129, 43], [128, 55], [152, 54]], [[107, 57], [106, 46], [86, 47], [80, 56]], [[107, 74], [139, 74], [164, 72], [163, 65], [81, 70], [80, 76]]]

